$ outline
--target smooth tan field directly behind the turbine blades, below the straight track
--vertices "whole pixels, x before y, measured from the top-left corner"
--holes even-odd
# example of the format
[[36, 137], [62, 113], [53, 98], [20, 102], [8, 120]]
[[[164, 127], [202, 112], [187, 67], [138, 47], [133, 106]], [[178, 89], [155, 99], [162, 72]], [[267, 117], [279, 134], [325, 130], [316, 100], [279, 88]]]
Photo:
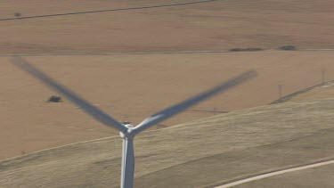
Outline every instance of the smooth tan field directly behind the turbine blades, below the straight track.
[[[104, 56], [29, 56], [39, 69], [106, 110], [134, 124], [158, 110], [216, 86], [248, 69], [258, 77], [186, 110], [158, 127], [265, 105], [319, 84], [322, 68], [334, 75], [331, 52], [186, 53]], [[115, 131], [103, 127], [65, 100], [45, 102], [55, 94], [0, 58], [2, 86], [0, 159], [66, 143], [90, 140]], [[332, 79], [332, 77], [331, 77]]]

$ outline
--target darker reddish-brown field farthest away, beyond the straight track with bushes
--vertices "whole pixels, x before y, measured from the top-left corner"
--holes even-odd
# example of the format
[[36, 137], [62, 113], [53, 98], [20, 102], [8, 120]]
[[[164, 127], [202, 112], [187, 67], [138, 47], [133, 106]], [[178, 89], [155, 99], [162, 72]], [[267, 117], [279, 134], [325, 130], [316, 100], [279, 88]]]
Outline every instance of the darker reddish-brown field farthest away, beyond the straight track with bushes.
[[[190, 0], [4, 0], [0, 19]], [[108, 53], [334, 48], [330, 0], [221, 0], [205, 4], [0, 21], [0, 53]]]

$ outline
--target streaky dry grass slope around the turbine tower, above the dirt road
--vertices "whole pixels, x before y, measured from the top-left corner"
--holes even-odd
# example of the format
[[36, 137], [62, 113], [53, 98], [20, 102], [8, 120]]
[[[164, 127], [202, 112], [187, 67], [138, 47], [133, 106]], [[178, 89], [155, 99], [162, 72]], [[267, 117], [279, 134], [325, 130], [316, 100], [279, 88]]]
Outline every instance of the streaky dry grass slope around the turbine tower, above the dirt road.
[[[134, 143], [136, 187], [208, 186], [329, 158], [333, 107], [332, 99], [287, 102], [143, 133]], [[110, 137], [5, 160], [0, 184], [118, 187], [120, 147]]]

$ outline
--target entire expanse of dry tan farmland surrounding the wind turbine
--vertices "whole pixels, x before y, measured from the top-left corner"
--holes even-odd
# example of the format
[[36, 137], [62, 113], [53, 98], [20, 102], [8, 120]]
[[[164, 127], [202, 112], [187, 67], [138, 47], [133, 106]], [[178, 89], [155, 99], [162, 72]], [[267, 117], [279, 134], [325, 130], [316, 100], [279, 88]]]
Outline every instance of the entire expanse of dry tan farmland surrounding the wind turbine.
[[[185, 2], [193, 1], [0, 1], [0, 187], [118, 187], [120, 173], [118, 132], [66, 99], [45, 102], [57, 94], [13, 66], [13, 54], [134, 125], [257, 70], [257, 78], [139, 135], [135, 187], [208, 187], [333, 159], [334, 86], [267, 104], [334, 80], [334, 1], [216, 0], [131, 9]], [[278, 50], [282, 45], [297, 50]], [[69, 143], [75, 144], [53, 148]], [[311, 178], [323, 173], [333, 175], [332, 165], [240, 187], [332, 187], [330, 176]]]

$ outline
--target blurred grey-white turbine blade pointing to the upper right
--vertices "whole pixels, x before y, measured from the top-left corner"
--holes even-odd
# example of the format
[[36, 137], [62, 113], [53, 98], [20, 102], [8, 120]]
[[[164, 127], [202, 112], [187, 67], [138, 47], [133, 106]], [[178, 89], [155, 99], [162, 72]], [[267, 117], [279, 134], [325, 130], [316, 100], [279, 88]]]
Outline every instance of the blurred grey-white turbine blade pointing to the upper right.
[[254, 78], [256, 76], [257, 72], [255, 70], [249, 70], [238, 77], [232, 78], [219, 86], [209, 89], [208, 91], [202, 94], [196, 95], [188, 100], [177, 103], [174, 106], [167, 108], [166, 110], [159, 111], [158, 113], [152, 115], [151, 117], [144, 119], [143, 122], [140, 123], [137, 127], [134, 127], [132, 130], [132, 134], [134, 135], [138, 134], [143, 130], [145, 130], [146, 128], [152, 127], [153, 125], [174, 116], [175, 114], [191, 107], [194, 104], [202, 102], [216, 94], [224, 92], [232, 88], [233, 86], [240, 85], [241, 83], [247, 81], [248, 79]]

